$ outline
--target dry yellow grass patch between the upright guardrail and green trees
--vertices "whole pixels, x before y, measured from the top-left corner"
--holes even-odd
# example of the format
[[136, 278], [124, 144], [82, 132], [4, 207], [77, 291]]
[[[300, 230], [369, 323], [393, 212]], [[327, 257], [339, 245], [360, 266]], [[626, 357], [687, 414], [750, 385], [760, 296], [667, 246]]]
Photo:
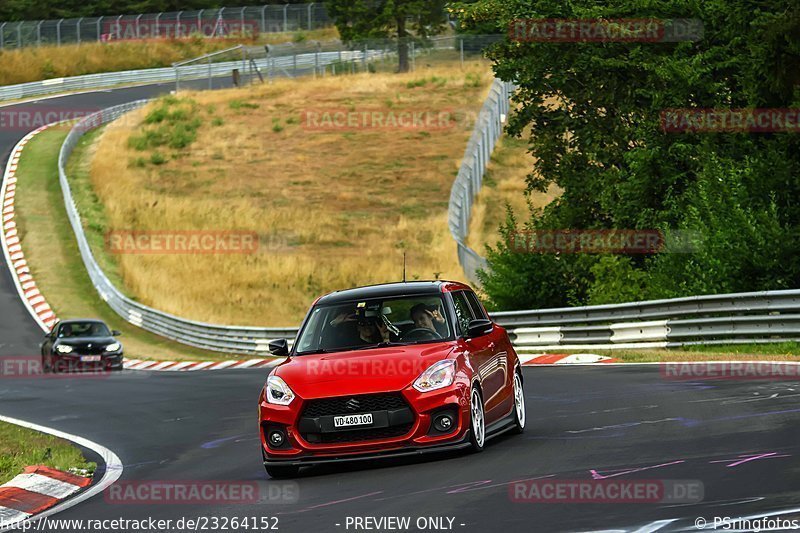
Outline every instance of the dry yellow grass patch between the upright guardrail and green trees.
[[528, 153], [526, 139], [527, 134], [522, 139], [503, 136], [492, 153], [483, 187], [472, 207], [467, 238], [467, 244], [478, 253], [499, 240], [498, 229], [506, 219], [506, 206], [522, 222], [530, 218], [531, 209], [542, 209], [561, 193], [552, 185], [547, 192], [526, 194], [525, 177], [536, 161]]

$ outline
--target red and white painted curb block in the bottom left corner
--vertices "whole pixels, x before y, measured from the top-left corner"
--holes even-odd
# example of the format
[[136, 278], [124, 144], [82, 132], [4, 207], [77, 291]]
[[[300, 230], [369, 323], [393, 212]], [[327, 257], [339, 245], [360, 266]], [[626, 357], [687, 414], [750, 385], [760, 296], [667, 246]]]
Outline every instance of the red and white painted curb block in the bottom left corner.
[[46, 466], [29, 466], [0, 485], [0, 523], [24, 520], [54, 507], [88, 486], [91, 479]]

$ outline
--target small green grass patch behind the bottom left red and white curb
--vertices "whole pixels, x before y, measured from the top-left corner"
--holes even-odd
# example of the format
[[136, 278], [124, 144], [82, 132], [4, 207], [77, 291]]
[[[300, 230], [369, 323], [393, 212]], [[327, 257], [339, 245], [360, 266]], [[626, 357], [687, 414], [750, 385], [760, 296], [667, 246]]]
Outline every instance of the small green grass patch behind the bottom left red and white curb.
[[45, 465], [62, 471], [71, 468], [94, 472], [97, 465], [86, 461], [69, 441], [27, 428], [0, 422], [0, 484], [26, 466]]

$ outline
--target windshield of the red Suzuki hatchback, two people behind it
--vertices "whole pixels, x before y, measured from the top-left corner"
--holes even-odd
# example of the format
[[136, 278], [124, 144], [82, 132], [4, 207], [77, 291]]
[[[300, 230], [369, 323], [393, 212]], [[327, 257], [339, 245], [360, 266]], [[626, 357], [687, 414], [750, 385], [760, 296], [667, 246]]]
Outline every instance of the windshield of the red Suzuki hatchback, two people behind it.
[[319, 305], [297, 341], [298, 355], [452, 338], [441, 295]]

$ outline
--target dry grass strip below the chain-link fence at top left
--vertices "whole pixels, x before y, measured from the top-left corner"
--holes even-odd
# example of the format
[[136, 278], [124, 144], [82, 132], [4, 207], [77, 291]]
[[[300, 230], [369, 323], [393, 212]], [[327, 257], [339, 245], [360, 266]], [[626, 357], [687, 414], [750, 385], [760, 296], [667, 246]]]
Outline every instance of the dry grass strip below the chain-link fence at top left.
[[[335, 39], [335, 28], [304, 33], [306, 38]], [[81, 45], [27, 47], [0, 50], [0, 85], [13, 85], [49, 78], [117, 72], [142, 68], [168, 67], [239, 43], [283, 43], [292, 33], [263, 34], [257, 41], [234, 39], [159, 39], [84, 43]]]

